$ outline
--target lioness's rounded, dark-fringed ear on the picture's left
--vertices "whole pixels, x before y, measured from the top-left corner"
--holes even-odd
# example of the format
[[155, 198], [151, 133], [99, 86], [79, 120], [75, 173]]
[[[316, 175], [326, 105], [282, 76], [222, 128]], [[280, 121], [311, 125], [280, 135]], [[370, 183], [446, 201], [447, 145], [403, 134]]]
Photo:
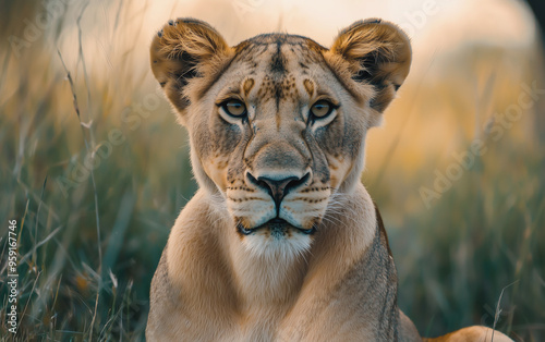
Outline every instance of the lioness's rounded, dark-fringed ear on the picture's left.
[[230, 52], [226, 40], [205, 22], [170, 21], [150, 47], [152, 71], [180, 114], [190, 105], [186, 85], [194, 77], [214, 73]]

